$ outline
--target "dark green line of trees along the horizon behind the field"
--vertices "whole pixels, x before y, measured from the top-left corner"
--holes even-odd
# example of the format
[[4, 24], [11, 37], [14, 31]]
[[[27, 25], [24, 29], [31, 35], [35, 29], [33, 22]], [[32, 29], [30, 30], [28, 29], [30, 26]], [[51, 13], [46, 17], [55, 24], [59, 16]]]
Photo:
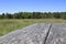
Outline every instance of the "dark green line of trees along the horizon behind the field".
[[0, 19], [65, 19], [66, 12], [18, 12], [2, 13]]

